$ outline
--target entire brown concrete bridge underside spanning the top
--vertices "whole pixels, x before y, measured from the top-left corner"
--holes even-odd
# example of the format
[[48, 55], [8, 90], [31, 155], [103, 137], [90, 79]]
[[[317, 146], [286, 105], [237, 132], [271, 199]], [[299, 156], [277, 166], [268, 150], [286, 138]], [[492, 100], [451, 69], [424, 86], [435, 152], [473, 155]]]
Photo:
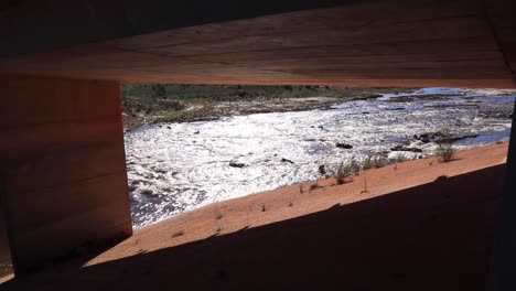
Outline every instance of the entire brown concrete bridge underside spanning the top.
[[4, 11], [0, 73], [122, 83], [515, 87], [510, 0], [39, 2]]

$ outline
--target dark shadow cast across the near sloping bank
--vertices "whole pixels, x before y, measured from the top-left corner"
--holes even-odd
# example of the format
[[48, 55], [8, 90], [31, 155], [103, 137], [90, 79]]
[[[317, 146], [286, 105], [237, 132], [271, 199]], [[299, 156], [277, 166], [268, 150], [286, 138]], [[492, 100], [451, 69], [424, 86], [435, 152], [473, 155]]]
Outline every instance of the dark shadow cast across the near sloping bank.
[[77, 260], [0, 288], [484, 290], [504, 169], [93, 267]]

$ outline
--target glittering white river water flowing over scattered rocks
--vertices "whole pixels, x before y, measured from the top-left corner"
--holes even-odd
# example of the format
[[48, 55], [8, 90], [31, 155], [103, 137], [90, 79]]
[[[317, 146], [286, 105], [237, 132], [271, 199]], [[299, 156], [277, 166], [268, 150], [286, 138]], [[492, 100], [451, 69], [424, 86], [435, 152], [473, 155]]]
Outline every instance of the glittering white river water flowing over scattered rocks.
[[[133, 227], [320, 179], [323, 164], [378, 153], [386, 159], [432, 154], [436, 143], [415, 134], [470, 137], [456, 141], [459, 150], [508, 140], [514, 100], [515, 95], [497, 90], [426, 88], [329, 109], [143, 126], [125, 136]], [[422, 152], [391, 151], [396, 146]]]

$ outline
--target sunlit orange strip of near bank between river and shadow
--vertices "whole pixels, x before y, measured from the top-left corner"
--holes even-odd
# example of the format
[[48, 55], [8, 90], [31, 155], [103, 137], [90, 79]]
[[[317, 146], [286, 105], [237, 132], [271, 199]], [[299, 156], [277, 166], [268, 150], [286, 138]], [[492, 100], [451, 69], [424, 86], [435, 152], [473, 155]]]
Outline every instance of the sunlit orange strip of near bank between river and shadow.
[[[147, 252], [227, 235], [426, 184], [437, 186], [433, 194], [441, 196], [440, 193], [445, 192], [439, 187], [441, 182], [504, 164], [507, 147], [508, 143], [504, 142], [460, 151], [449, 163], [429, 158], [370, 169], [353, 175], [343, 185], [337, 185], [335, 179], [331, 177], [214, 203], [140, 229], [133, 237], [90, 263], [135, 255], [141, 250]], [[484, 182], [491, 183], [490, 180]], [[459, 190], [461, 187], [466, 190], [469, 185], [454, 186]], [[426, 194], [416, 191], [413, 195]], [[423, 204], [424, 201], [419, 203]]]

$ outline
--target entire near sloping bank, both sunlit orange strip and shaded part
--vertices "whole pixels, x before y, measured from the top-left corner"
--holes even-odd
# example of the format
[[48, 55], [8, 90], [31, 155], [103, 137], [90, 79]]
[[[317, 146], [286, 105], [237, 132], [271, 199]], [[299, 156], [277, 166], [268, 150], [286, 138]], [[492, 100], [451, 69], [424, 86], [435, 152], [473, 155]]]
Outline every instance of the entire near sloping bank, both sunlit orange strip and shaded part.
[[2, 288], [483, 290], [506, 154], [505, 142], [207, 205]]

